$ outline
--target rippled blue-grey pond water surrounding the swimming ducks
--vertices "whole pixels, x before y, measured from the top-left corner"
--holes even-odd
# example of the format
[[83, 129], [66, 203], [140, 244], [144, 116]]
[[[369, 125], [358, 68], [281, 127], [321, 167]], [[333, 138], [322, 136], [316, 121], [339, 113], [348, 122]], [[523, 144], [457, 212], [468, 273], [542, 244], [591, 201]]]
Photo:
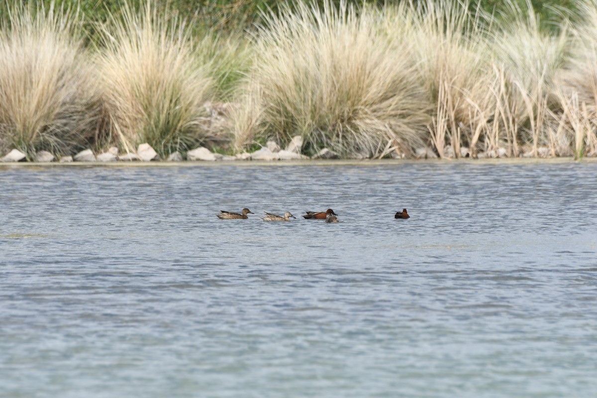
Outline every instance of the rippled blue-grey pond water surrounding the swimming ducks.
[[0, 396], [594, 397], [595, 175], [5, 166]]

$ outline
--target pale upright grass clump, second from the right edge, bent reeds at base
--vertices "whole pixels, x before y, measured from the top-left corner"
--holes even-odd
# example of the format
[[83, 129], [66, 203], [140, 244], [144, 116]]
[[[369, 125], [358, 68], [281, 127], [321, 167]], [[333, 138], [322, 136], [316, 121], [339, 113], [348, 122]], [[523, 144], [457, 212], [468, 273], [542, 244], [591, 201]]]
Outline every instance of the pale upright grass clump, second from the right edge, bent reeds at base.
[[[550, 110], [558, 90], [556, 78], [567, 60], [568, 26], [564, 19], [555, 33], [540, 29], [540, 20], [527, 2], [527, 10], [510, 4], [508, 21], [494, 37], [496, 64], [503, 68], [507, 90], [504, 106], [518, 127], [509, 151], [519, 155], [519, 144], [530, 144], [533, 156], [538, 147], [550, 144]], [[506, 128], [504, 131], [508, 131]]]

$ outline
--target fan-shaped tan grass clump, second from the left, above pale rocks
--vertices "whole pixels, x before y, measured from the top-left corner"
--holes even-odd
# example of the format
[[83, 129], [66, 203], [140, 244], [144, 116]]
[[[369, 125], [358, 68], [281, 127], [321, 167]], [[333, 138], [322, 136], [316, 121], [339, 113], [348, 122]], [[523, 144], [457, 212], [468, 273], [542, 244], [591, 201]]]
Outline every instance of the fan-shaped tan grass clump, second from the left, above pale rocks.
[[125, 5], [104, 33], [98, 67], [123, 149], [146, 142], [168, 155], [218, 138], [205, 124], [214, 81], [183, 21], [158, 14], [147, 1], [139, 12]]

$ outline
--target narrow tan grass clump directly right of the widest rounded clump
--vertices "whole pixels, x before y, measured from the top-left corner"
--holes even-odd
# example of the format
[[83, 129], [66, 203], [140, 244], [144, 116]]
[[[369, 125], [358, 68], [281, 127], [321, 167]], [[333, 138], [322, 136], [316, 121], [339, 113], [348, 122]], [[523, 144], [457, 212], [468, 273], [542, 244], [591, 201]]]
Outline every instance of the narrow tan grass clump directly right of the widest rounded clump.
[[[491, 99], [487, 29], [469, 10], [469, 2], [427, 0], [410, 2], [390, 14], [390, 36], [396, 42], [407, 38], [413, 43], [418, 79], [435, 103], [430, 134], [442, 158], [460, 158], [460, 147], [470, 146], [471, 132], [479, 124], [478, 110], [493, 108], [491, 101], [487, 103]], [[469, 142], [463, 142], [466, 137]]]

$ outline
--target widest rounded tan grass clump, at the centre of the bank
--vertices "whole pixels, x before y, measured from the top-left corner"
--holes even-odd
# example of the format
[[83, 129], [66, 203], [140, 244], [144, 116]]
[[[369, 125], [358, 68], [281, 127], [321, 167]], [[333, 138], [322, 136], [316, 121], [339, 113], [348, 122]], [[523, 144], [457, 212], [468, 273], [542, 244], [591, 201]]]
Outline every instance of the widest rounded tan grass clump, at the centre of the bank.
[[382, 38], [380, 11], [327, 2], [266, 14], [236, 113], [236, 146], [301, 135], [303, 151], [410, 155], [426, 139], [430, 102], [410, 44]]

